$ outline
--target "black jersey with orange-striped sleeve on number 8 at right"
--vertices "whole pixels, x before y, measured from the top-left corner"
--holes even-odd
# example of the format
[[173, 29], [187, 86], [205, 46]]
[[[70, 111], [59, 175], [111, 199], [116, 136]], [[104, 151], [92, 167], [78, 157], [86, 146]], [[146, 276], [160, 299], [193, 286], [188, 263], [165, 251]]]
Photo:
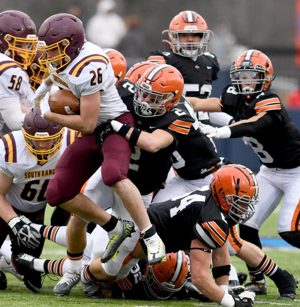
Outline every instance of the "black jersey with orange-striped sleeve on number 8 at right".
[[[254, 95], [253, 95], [254, 96]], [[247, 136], [247, 141], [261, 163], [267, 167], [293, 168], [300, 164], [300, 132], [289, 117], [278, 95], [271, 90], [251, 97], [245, 104], [245, 96], [237, 94], [228, 84], [219, 99], [222, 112], [237, 122], [261, 112], [272, 114], [270, 126]]]

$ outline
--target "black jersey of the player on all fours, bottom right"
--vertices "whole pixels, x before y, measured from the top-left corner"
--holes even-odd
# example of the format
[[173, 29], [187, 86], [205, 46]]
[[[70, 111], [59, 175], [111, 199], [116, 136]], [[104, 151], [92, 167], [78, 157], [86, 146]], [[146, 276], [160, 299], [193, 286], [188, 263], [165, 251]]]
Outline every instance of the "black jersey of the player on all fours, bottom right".
[[221, 247], [233, 224], [217, 207], [209, 186], [151, 204], [147, 213], [165, 243], [167, 253], [189, 250], [195, 238], [209, 248]]

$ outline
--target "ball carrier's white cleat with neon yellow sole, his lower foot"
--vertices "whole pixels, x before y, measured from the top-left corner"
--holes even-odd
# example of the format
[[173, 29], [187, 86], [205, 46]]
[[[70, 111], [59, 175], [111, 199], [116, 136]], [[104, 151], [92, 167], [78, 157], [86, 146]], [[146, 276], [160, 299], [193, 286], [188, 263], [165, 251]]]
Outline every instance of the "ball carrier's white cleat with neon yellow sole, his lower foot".
[[157, 233], [153, 236], [143, 239], [148, 251], [148, 263], [154, 265], [166, 261], [166, 248], [162, 239]]

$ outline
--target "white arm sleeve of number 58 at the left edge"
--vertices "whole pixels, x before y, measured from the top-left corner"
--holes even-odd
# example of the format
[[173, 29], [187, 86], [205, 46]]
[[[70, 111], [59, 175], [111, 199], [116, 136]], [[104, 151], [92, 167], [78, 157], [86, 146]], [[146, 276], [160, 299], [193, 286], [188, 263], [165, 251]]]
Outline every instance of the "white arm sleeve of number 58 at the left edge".
[[22, 113], [19, 96], [0, 99], [0, 113], [8, 128], [12, 131], [20, 130], [25, 113]]

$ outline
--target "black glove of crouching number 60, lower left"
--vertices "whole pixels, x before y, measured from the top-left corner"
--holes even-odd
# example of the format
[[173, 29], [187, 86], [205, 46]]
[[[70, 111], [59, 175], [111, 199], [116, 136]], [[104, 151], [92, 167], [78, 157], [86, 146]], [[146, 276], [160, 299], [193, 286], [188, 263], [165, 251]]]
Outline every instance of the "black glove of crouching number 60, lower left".
[[24, 245], [27, 248], [36, 248], [40, 245], [38, 239], [41, 238], [41, 235], [33, 227], [27, 225], [22, 220], [12, 227], [12, 232], [16, 236], [19, 246]]

